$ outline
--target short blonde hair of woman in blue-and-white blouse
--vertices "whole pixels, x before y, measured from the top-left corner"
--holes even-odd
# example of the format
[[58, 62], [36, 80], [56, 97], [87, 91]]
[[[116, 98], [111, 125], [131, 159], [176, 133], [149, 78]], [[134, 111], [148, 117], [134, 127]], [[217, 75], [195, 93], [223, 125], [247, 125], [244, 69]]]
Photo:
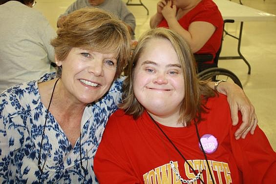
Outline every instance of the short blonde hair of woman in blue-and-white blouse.
[[[74, 47], [117, 53], [114, 79], [121, 75], [130, 57], [130, 35], [122, 20], [105, 10], [90, 7], [70, 13], [63, 25], [51, 41], [57, 60], [64, 61]], [[62, 67], [57, 67], [57, 76], [61, 77], [61, 73]]]

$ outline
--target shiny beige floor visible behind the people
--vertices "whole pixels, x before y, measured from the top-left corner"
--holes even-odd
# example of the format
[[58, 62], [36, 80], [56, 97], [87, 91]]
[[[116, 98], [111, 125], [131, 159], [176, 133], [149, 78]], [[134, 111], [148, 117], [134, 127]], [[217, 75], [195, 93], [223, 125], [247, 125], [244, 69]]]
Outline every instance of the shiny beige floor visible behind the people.
[[[56, 28], [57, 18], [73, 1], [38, 0], [34, 8], [40, 10]], [[149, 8], [149, 16], [142, 6], [128, 6], [136, 18], [136, 38], [149, 28], [149, 18], [156, 11], [157, 1], [143, 0]], [[233, 1], [238, 2], [238, 0]], [[242, 2], [246, 6], [276, 14], [276, 0], [242, 0]], [[239, 22], [227, 25], [226, 29], [238, 36]], [[241, 52], [251, 64], [251, 75], [247, 75], [247, 66], [241, 60], [219, 61], [219, 66], [233, 71], [241, 80], [246, 94], [255, 105], [258, 124], [276, 150], [276, 20], [245, 22], [243, 30]], [[237, 41], [231, 37], [225, 37], [221, 55], [235, 55], [236, 44]]]

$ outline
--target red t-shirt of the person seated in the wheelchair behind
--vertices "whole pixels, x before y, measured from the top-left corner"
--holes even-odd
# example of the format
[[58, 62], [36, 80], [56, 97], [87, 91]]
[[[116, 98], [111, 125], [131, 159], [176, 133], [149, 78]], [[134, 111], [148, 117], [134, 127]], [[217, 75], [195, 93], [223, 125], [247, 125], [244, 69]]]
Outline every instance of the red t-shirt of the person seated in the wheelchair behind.
[[[191, 22], [205, 21], [216, 27], [215, 32], [205, 45], [195, 54], [212, 54], [215, 57], [221, 44], [223, 19], [218, 7], [212, 0], [201, 0], [193, 9], [178, 20], [179, 24], [188, 31]], [[167, 21], [162, 20], [157, 27], [169, 27]], [[204, 31], [204, 30], [202, 30]]]

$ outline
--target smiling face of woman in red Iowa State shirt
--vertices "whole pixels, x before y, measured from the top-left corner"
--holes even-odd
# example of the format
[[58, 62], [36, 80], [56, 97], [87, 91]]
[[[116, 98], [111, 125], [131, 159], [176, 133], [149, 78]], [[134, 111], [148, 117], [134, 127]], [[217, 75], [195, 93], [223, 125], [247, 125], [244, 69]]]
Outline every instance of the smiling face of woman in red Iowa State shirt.
[[184, 85], [182, 68], [170, 41], [150, 39], [134, 69], [136, 99], [155, 116], [179, 117]]

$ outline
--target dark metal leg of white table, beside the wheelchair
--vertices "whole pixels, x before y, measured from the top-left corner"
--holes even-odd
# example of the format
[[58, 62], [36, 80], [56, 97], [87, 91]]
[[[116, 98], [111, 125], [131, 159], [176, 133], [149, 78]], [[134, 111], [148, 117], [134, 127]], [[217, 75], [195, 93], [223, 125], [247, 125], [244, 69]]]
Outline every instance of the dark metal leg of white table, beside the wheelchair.
[[241, 36], [242, 36], [242, 29], [243, 29], [243, 22], [240, 22], [240, 29], [239, 29], [239, 37], [234, 37], [233, 35], [229, 34], [227, 31], [225, 31], [226, 35], [229, 35], [235, 39], [238, 40], [238, 47], [237, 47], [237, 51], [239, 56], [223, 56], [223, 57], [219, 57], [219, 60], [237, 60], [237, 59], [242, 59], [248, 66], [248, 74], [251, 74], [251, 66], [249, 64], [249, 62], [244, 58], [244, 56], [241, 54], [240, 51], [240, 45], [241, 45]]

